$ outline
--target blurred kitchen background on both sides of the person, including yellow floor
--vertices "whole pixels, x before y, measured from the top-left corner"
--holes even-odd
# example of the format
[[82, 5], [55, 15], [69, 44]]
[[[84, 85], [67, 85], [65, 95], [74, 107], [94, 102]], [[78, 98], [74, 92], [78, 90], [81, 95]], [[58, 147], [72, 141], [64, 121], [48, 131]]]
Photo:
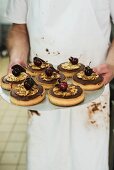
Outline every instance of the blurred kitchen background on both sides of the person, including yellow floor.
[[[3, 17], [8, 0], [0, 0], [0, 77], [8, 66], [6, 37], [10, 23]], [[112, 25], [111, 39], [114, 37]], [[114, 80], [110, 83], [110, 170], [114, 170]], [[0, 97], [0, 170], [26, 170], [27, 111], [9, 105]]]

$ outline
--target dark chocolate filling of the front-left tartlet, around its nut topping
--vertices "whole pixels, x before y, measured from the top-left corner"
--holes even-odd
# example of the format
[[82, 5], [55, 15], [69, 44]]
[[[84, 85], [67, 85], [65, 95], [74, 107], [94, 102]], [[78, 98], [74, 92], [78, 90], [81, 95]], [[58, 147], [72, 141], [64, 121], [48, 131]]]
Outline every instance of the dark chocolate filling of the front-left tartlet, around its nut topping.
[[13, 89], [11, 92], [10, 92], [10, 95], [14, 98], [16, 98], [17, 100], [23, 100], [23, 101], [29, 101], [29, 100], [32, 100], [38, 96], [41, 96], [42, 93], [43, 93], [43, 87], [41, 85], [38, 85], [38, 93], [34, 94], [34, 95], [31, 95], [31, 96], [19, 96], [17, 93], [16, 93], [16, 89]]

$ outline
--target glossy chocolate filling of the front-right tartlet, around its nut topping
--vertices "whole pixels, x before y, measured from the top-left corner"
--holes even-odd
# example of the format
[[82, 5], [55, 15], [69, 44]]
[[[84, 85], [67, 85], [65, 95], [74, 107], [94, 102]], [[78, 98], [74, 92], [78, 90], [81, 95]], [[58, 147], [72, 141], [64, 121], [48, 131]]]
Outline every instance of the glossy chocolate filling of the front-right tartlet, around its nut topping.
[[73, 98], [77, 98], [79, 96], [81, 96], [81, 94], [83, 93], [83, 90], [79, 87], [79, 86], [76, 86], [77, 88], [77, 93], [74, 94], [74, 95], [71, 95], [71, 96], [62, 96], [62, 95], [56, 95], [54, 92], [53, 92], [53, 88], [51, 88], [49, 90], [49, 94], [54, 96], [54, 97], [57, 97], [57, 98], [62, 98], [62, 99], [73, 99]]

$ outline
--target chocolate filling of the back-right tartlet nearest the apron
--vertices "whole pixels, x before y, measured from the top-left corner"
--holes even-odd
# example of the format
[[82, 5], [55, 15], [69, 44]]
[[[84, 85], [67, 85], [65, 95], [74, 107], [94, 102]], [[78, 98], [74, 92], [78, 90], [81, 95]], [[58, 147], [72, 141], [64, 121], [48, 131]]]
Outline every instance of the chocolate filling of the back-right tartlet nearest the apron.
[[[64, 64], [64, 63], [62, 63], [62, 64]], [[77, 69], [67, 70], [67, 69], [64, 69], [64, 68], [62, 67], [62, 64], [58, 65], [58, 66], [57, 66], [57, 69], [60, 70], [60, 71], [68, 72], [68, 73], [81, 71], [81, 70], [83, 70], [84, 67], [85, 67], [83, 64], [81, 64], [81, 66], [80, 66], [79, 68], [77, 68]]]

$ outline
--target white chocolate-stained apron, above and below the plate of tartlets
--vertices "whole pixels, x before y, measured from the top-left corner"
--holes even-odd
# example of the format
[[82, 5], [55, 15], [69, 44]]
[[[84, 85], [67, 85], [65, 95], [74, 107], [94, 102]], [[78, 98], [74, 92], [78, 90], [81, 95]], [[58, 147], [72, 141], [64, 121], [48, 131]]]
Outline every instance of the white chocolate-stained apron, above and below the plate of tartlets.
[[[94, 2], [28, 0], [31, 57], [38, 54], [54, 65], [70, 56], [78, 56], [85, 65], [90, 61], [91, 66], [104, 63], [109, 11], [107, 0], [102, 0], [106, 8], [96, 0], [101, 7], [97, 9], [96, 5], [97, 14], [100, 12], [109, 30], [104, 36], [99, 15], [93, 10]], [[90, 103], [32, 116], [28, 125], [28, 170], [108, 170], [108, 142], [107, 85], [103, 94]]]

